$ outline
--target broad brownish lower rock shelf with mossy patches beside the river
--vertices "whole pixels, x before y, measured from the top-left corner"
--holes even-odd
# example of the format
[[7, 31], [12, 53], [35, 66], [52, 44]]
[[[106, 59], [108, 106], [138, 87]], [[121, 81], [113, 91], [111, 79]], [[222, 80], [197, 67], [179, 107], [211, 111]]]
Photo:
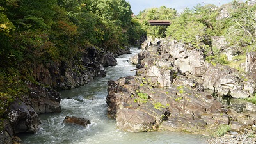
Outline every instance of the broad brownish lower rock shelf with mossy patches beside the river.
[[[129, 76], [108, 82], [108, 115], [116, 118], [119, 129], [131, 132], [187, 131], [211, 135], [220, 124], [240, 124], [234, 110], [224, 106], [209, 92], [186, 86], [158, 87], [152, 77]], [[240, 115], [240, 114], [239, 114]], [[253, 120], [250, 116], [248, 120]], [[251, 124], [251, 123], [250, 123]], [[250, 127], [249, 121], [243, 127]], [[232, 128], [241, 131], [239, 127]], [[238, 127], [238, 126], [237, 126]]]

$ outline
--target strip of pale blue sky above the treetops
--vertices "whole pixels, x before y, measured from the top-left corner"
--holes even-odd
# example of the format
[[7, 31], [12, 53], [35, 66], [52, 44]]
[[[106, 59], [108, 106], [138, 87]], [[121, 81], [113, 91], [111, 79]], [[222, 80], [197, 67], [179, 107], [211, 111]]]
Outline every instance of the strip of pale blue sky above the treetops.
[[[131, 4], [132, 12], [138, 15], [140, 10], [147, 8], [159, 8], [160, 6], [166, 6], [168, 8], [175, 8], [177, 12], [182, 12], [184, 8], [193, 8], [197, 4], [204, 6], [205, 4], [214, 4], [221, 6], [231, 2], [232, 0], [126, 0]], [[245, 1], [245, 0], [241, 0]]]

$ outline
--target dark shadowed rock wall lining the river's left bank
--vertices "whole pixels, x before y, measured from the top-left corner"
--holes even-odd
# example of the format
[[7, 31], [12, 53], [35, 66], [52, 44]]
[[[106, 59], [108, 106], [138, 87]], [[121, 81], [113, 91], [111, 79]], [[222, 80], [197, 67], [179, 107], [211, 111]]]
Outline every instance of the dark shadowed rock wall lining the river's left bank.
[[10, 104], [8, 118], [1, 127], [0, 143], [20, 142], [15, 134], [36, 133], [40, 129], [40, 113], [61, 112], [61, 95], [56, 90], [83, 86], [95, 77], [106, 76], [104, 67], [117, 65], [116, 55], [129, 53], [125, 47], [115, 54], [88, 47], [72, 60], [65, 62], [33, 63], [35, 81], [26, 81], [29, 93]]

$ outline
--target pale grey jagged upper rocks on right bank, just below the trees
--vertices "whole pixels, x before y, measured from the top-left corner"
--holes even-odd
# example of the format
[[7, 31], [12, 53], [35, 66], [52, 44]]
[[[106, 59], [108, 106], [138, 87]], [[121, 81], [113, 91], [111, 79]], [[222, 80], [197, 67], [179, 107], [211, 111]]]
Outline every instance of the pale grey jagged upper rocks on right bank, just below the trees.
[[[215, 90], [219, 95], [248, 98], [255, 92], [256, 82], [253, 76], [246, 75], [244, 78], [245, 76], [234, 68], [205, 63], [204, 53], [200, 49], [187, 49], [186, 45], [168, 39], [157, 42], [147, 49], [138, 54], [138, 65], [147, 67], [149, 76], [156, 76], [162, 86], [170, 86], [173, 74], [191, 72], [194, 76], [189, 80], [191, 84], [200, 84], [207, 89]], [[248, 56], [248, 61], [253, 61], [252, 56], [253, 54]], [[171, 70], [166, 72], [166, 69]]]

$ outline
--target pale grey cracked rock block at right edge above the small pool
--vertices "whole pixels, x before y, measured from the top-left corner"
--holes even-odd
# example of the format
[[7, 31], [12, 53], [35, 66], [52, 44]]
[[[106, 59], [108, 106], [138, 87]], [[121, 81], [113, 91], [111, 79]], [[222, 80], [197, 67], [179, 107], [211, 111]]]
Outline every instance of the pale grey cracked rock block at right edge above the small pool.
[[205, 64], [202, 73], [202, 85], [205, 88], [216, 90], [219, 95], [228, 95], [234, 98], [248, 98], [255, 92], [255, 81], [240, 76], [234, 68], [221, 65]]

